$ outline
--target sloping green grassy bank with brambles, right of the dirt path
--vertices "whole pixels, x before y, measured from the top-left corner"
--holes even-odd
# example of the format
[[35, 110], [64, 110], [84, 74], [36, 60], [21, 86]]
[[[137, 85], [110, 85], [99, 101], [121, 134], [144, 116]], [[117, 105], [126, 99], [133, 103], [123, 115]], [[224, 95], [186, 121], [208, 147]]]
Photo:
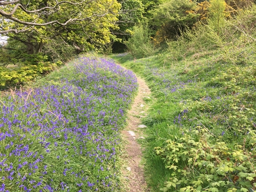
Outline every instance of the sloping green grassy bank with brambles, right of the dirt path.
[[143, 119], [151, 191], [256, 190], [253, 55], [237, 65], [218, 49], [178, 60], [170, 52], [112, 56], [145, 77], [156, 98]]

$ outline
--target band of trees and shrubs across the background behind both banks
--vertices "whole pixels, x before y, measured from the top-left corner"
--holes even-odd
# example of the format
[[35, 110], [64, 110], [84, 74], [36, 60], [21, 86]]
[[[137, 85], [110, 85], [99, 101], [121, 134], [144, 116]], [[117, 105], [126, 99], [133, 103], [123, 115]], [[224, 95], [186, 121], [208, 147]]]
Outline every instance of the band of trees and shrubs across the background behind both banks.
[[0, 45], [2, 90], [44, 75], [83, 52], [129, 50], [140, 58], [166, 47], [175, 51], [183, 38], [197, 43], [193, 46], [220, 46], [232, 60], [229, 45], [240, 49], [255, 41], [252, 0], [2, 0], [0, 6], [0, 34], [8, 37]]

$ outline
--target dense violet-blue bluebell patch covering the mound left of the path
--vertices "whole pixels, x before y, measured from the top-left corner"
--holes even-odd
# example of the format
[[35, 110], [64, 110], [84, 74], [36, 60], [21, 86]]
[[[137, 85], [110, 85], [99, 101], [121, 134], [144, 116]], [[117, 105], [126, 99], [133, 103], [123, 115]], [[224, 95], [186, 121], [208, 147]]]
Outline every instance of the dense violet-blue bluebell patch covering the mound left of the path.
[[59, 82], [2, 95], [0, 191], [119, 189], [119, 130], [137, 79], [106, 59], [66, 70]]

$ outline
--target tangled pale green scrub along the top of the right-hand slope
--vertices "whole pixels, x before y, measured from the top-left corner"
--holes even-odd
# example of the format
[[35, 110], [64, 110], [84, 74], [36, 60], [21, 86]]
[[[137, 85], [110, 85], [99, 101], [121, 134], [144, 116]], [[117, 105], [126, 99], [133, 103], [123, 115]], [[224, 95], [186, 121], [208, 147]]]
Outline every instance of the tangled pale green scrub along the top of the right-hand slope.
[[[221, 59], [225, 62], [234, 65], [253, 63], [256, 52], [256, 30], [253, 27], [256, 23], [256, 5], [240, 10], [229, 20], [225, 20], [223, 14], [220, 18], [215, 15], [215, 19], [209, 20], [209, 25], [197, 23], [193, 29], [181, 31], [175, 41], [167, 42], [171, 59], [178, 61], [186, 59], [188, 54], [202, 54], [220, 48]], [[218, 24], [218, 20], [222, 23]]]

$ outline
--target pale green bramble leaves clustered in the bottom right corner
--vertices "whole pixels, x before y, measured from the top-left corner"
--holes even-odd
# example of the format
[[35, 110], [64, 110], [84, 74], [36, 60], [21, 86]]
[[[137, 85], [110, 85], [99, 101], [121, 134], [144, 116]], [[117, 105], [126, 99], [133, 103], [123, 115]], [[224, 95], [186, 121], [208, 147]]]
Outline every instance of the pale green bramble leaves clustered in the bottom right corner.
[[[252, 169], [256, 164], [253, 159], [255, 151], [248, 156], [237, 145], [227, 153], [226, 143], [209, 143], [205, 134], [198, 134], [198, 138], [183, 134], [181, 138], [166, 140], [164, 147], [155, 148], [156, 154], [164, 160], [165, 168], [177, 175], [165, 183], [165, 188], [162, 188], [164, 191], [177, 188], [179, 191], [202, 191], [203, 186], [209, 186], [205, 188], [207, 191], [233, 190], [238, 187], [240, 191], [245, 191], [253, 187], [252, 181], [256, 178]], [[181, 158], [183, 161], [180, 161]], [[247, 163], [248, 159], [250, 163]]]

